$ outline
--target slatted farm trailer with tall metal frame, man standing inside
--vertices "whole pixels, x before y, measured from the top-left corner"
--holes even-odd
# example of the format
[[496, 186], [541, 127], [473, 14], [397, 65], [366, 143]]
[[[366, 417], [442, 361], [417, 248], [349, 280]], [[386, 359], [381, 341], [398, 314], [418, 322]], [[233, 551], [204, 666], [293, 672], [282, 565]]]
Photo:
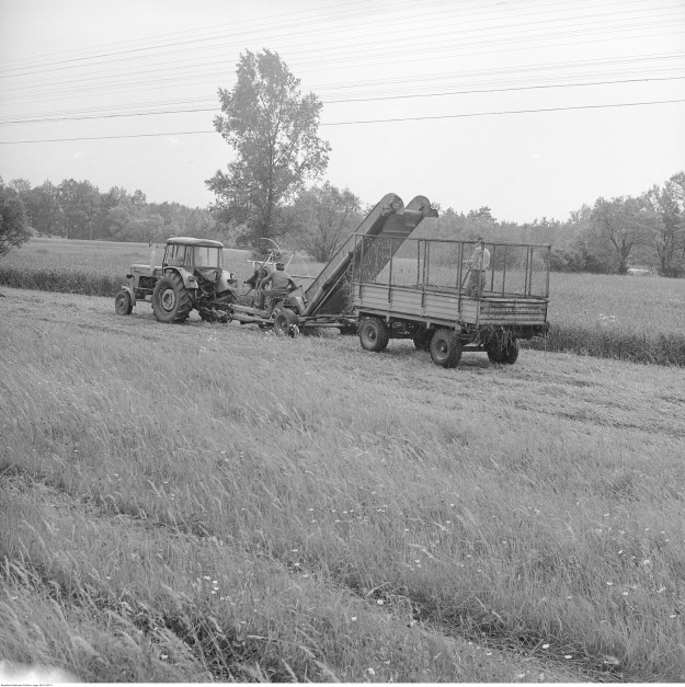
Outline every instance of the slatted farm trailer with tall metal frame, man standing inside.
[[[354, 241], [361, 259], [350, 274], [352, 310], [366, 351], [412, 339], [442, 367], [458, 365], [465, 351], [512, 365], [520, 340], [547, 333], [549, 244], [361, 234]], [[375, 262], [384, 268], [366, 270]]]

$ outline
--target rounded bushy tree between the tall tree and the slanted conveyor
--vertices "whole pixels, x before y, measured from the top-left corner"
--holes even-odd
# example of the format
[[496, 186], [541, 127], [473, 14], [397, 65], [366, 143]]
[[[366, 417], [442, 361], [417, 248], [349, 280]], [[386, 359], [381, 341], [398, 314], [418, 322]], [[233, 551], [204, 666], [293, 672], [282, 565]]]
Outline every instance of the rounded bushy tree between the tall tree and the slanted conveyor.
[[317, 262], [328, 262], [359, 222], [359, 198], [330, 182], [304, 191], [292, 208], [295, 240]]

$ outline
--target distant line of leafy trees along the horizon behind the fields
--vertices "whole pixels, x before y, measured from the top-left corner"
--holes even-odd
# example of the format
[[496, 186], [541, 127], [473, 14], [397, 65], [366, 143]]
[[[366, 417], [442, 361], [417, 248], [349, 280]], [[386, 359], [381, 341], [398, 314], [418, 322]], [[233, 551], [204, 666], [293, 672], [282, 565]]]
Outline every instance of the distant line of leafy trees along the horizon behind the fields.
[[[23, 179], [4, 184], [3, 197], [21, 199], [35, 236], [106, 241], [164, 241], [171, 236], [214, 238], [244, 247], [244, 231], [226, 211], [191, 208], [179, 203], [149, 203], [146, 194], [113, 186], [102, 193], [89, 181], [45, 181], [32, 186]], [[439, 205], [437, 205], [439, 208]], [[328, 261], [355, 230], [370, 207], [350, 190], [329, 182], [294, 196], [281, 211], [276, 238]], [[673, 174], [638, 197], [597, 198], [569, 219], [498, 220], [489, 207], [468, 211], [439, 208], [434, 238], [551, 243], [557, 272], [626, 274], [644, 266], [670, 277], [685, 276], [685, 172]], [[419, 231], [420, 233], [420, 231]]]

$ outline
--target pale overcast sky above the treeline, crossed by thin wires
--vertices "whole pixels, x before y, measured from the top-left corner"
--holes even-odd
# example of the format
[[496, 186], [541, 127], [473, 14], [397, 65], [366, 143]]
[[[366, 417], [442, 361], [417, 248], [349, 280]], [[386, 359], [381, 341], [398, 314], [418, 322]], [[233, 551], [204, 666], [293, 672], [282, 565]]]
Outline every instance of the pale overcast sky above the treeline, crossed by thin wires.
[[204, 207], [217, 89], [263, 48], [364, 203], [564, 220], [685, 169], [684, 0], [0, 0], [0, 175]]

